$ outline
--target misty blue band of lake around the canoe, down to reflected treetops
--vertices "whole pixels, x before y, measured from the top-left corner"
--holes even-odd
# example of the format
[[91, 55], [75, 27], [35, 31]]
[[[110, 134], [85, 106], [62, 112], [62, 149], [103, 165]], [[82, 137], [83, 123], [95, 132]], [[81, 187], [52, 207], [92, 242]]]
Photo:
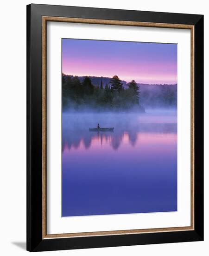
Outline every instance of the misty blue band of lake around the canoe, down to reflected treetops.
[[[175, 134], [177, 133], [177, 115], [175, 110], [148, 109], [146, 114], [125, 112], [65, 112], [63, 113], [63, 149], [91, 147], [92, 141], [108, 141], [118, 149], [127, 136], [130, 144], [137, 142], [139, 133]], [[91, 132], [97, 123], [103, 128], [114, 127], [114, 131]]]

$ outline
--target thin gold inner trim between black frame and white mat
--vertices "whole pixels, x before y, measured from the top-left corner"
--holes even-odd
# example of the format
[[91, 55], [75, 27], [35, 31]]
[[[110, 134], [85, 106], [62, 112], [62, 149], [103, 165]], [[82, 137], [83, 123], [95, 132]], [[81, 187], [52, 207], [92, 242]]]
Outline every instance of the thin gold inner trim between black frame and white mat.
[[[171, 227], [158, 229], [130, 229], [114, 231], [97, 231], [68, 234], [51, 234], [46, 232], [46, 23], [47, 21], [74, 22], [103, 25], [121, 25], [136, 27], [165, 27], [190, 29], [191, 33], [191, 223], [188, 227]], [[61, 237], [79, 237], [79, 236], [106, 236], [106, 235], [124, 235], [124, 234], [142, 234], [156, 232], [186, 231], [194, 230], [194, 26], [184, 24], [152, 23], [124, 20], [98, 20], [82, 18], [64, 18], [64, 17], [42, 17], [42, 238], [61, 238]]]

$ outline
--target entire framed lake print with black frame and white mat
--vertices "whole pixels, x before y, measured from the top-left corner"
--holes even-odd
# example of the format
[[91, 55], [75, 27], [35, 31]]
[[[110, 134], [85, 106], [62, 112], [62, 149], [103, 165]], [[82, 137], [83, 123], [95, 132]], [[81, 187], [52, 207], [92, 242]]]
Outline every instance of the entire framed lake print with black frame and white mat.
[[27, 250], [203, 240], [203, 15], [27, 6]]

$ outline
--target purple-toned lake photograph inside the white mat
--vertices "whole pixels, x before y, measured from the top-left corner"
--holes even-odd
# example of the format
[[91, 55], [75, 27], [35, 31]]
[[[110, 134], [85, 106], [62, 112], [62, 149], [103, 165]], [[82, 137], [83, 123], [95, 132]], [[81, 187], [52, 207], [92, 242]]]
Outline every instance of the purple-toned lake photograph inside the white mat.
[[62, 38], [60, 61], [62, 217], [176, 212], [177, 44]]

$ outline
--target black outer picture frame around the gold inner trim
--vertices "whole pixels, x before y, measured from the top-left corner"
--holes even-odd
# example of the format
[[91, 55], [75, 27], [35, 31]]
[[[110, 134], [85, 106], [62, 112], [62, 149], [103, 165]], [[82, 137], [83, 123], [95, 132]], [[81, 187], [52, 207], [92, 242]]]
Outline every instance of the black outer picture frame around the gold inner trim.
[[[194, 26], [194, 230], [43, 239], [42, 17]], [[27, 6], [27, 250], [46, 251], [203, 241], [203, 15], [31, 4]]]

